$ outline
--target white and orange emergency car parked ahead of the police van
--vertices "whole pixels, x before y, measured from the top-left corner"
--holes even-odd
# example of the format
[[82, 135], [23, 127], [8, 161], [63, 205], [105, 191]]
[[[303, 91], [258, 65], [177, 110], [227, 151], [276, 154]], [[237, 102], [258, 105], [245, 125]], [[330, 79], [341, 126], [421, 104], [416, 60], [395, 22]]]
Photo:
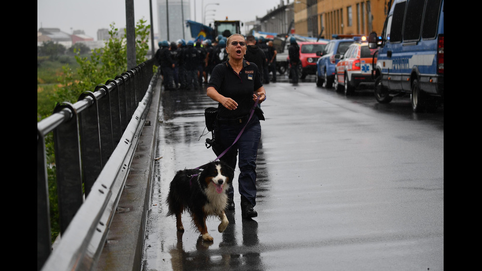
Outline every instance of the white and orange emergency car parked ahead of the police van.
[[377, 61], [375, 57], [377, 51], [377, 49], [368, 48], [368, 42], [352, 43], [343, 58], [336, 63], [333, 83], [335, 90], [345, 90], [345, 95], [350, 95], [363, 86], [373, 88], [375, 80], [371, 70], [373, 63]]

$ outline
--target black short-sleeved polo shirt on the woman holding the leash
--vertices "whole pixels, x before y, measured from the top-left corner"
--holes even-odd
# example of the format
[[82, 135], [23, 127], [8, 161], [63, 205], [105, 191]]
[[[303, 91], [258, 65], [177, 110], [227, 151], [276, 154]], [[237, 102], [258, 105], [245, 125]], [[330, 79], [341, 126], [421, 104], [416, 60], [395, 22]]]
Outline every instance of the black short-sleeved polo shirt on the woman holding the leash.
[[228, 61], [217, 64], [212, 70], [208, 83], [208, 88], [213, 87], [219, 94], [238, 103], [238, 108], [235, 110], [228, 110], [218, 103], [220, 119], [236, 119], [249, 115], [254, 106], [253, 94], [262, 86], [258, 66], [246, 60], [243, 60], [239, 74], [233, 70]]

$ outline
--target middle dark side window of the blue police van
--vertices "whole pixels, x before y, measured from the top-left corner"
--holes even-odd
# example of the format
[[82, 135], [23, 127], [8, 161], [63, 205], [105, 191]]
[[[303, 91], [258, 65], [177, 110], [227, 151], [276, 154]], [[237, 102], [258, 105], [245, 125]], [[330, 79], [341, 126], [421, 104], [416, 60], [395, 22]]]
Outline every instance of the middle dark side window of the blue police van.
[[411, 0], [407, 4], [403, 40], [419, 40], [425, 1]]

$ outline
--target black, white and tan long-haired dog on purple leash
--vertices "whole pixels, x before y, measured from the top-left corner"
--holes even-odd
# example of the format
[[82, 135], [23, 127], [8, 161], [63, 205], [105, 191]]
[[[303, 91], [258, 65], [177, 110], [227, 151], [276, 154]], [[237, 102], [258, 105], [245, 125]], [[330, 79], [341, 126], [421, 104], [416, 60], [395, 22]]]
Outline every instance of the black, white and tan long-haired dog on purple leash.
[[212, 241], [208, 233], [206, 218], [217, 215], [221, 223], [217, 227], [224, 232], [229, 221], [224, 213], [227, 206], [226, 194], [234, 178], [234, 169], [219, 160], [210, 162], [200, 169], [180, 170], [169, 186], [166, 199], [167, 216], [176, 216], [176, 228], [183, 232], [181, 214], [187, 211], [193, 225], [204, 241]]

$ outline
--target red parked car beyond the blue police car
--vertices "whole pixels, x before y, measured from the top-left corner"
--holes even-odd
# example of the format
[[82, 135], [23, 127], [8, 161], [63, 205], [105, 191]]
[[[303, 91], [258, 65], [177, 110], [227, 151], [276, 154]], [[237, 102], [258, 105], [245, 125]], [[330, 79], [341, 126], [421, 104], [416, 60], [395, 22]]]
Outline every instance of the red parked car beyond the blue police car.
[[[316, 61], [320, 56], [316, 52], [323, 51], [328, 44], [328, 40], [322, 41], [299, 41], [300, 46], [300, 71], [298, 72], [300, 79], [304, 79], [308, 74], [316, 74]], [[288, 62], [290, 57], [287, 58]]]

